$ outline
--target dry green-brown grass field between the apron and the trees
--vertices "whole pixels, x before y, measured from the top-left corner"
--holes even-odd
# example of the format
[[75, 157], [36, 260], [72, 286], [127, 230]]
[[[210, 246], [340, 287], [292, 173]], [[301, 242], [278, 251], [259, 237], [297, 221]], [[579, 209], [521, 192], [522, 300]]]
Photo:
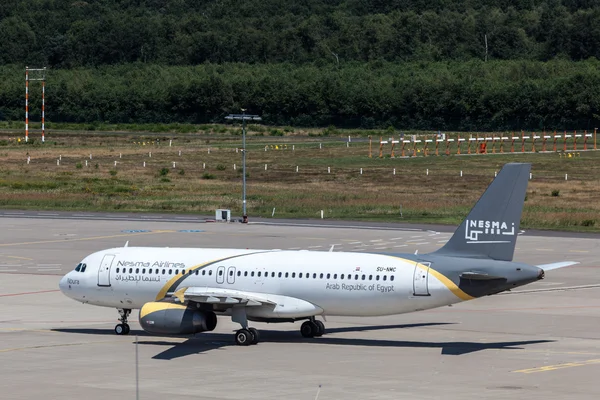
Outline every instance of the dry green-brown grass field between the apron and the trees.
[[[44, 144], [39, 133], [31, 135], [33, 144], [25, 144], [17, 140], [22, 132], [5, 131], [0, 134], [0, 207], [208, 215], [230, 208], [240, 215], [241, 152], [236, 147], [241, 138], [232, 132], [237, 128], [227, 129], [225, 136], [51, 133]], [[369, 158], [368, 141], [347, 147], [346, 135], [250, 132], [249, 215], [271, 216], [275, 208], [279, 218], [320, 218], [323, 210], [329, 219], [457, 224], [494, 173], [518, 161], [533, 164], [524, 227], [600, 228], [597, 152], [423, 157], [420, 151], [418, 157], [390, 158], [387, 147], [379, 158], [374, 144]]]

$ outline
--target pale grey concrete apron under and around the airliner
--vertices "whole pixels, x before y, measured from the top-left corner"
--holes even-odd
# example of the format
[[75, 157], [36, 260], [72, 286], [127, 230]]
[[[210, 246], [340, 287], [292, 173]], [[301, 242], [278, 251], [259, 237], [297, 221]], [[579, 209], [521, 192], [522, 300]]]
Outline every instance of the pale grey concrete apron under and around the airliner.
[[[329, 317], [328, 334], [255, 324], [262, 342], [238, 347], [221, 318], [210, 334], [150, 336], [133, 315], [76, 303], [59, 277], [109, 247], [241, 247], [429, 252], [451, 232], [387, 227], [196, 221], [0, 218], [2, 399], [595, 399], [600, 387], [598, 239], [521, 235], [515, 260], [581, 264], [511, 294], [379, 318]], [[600, 238], [600, 236], [598, 236]], [[137, 314], [134, 312], [134, 314]]]

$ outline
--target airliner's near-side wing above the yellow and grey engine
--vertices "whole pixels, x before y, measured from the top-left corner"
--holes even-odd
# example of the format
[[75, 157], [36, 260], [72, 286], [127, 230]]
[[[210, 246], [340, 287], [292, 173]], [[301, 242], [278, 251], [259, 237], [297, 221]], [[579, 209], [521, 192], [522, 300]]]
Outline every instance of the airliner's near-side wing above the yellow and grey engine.
[[276, 302], [269, 299], [269, 297], [264, 294], [211, 287], [181, 288], [173, 293], [173, 297], [178, 298], [181, 303], [193, 301], [196, 303], [225, 306], [241, 304], [246, 307], [277, 305]]

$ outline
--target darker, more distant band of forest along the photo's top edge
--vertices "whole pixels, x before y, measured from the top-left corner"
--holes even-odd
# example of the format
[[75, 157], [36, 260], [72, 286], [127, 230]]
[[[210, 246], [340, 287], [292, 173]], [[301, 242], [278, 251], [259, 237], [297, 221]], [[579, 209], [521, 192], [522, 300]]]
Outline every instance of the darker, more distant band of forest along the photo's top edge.
[[[600, 58], [593, 0], [3, 0], [0, 65]], [[487, 38], [487, 49], [486, 49]]]

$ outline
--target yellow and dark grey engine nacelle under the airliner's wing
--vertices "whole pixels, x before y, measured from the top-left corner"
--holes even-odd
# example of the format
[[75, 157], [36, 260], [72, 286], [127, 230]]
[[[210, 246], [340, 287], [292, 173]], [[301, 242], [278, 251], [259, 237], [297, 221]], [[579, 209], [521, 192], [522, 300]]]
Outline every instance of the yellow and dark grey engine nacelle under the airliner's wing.
[[212, 311], [201, 311], [181, 304], [150, 302], [140, 310], [140, 325], [149, 333], [188, 335], [212, 331], [217, 326], [217, 316]]

